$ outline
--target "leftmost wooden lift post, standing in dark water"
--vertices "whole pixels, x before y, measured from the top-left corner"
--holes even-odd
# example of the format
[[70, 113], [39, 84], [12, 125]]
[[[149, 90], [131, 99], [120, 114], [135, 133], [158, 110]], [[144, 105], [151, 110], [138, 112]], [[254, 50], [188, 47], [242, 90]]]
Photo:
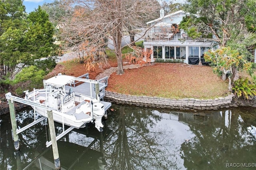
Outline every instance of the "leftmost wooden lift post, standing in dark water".
[[19, 136], [16, 132], [17, 130], [17, 122], [16, 122], [16, 113], [14, 109], [14, 101], [8, 99], [9, 109], [10, 109], [10, 117], [11, 117], [11, 123], [12, 123], [12, 134], [13, 134], [13, 140], [14, 140], [14, 148], [15, 150], [20, 149], [20, 142], [19, 142]]

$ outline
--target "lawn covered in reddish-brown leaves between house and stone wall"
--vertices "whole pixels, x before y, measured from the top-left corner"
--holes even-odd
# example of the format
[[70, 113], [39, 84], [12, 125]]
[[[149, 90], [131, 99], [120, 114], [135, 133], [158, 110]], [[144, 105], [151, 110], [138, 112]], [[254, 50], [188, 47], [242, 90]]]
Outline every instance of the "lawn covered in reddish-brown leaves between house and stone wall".
[[108, 91], [171, 99], [215, 99], [228, 95], [228, 81], [222, 81], [210, 66], [155, 63], [138, 69], [113, 73]]

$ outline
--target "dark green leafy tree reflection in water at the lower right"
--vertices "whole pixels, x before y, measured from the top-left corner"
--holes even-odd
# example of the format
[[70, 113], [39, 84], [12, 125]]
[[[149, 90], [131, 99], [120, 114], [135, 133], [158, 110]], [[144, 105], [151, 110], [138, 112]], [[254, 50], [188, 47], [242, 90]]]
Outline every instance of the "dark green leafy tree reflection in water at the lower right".
[[[225, 169], [227, 163], [256, 162], [254, 142], [246, 130], [255, 124], [255, 111], [244, 113], [246, 110], [232, 109], [219, 114], [190, 115], [186, 123], [196, 136], [181, 146], [184, 166], [188, 169]], [[188, 120], [188, 115], [180, 115], [182, 120]]]

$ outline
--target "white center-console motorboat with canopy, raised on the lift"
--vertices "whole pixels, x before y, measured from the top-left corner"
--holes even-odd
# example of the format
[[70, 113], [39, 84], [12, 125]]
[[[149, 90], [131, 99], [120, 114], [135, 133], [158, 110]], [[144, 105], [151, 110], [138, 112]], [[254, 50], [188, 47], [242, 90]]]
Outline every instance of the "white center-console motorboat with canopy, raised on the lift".
[[[72, 88], [65, 90], [65, 86], [71, 85], [74, 81], [74, 76], [58, 74], [44, 81], [44, 89], [25, 91], [25, 99], [52, 108], [53, 119], [56, 122], [81, 128], [85, 127], [86, 123], [94, 121], [95, 127], [102, 131], [104, 104], [100, 99], [75, 93]], [[47, 117], [46, 110], [39, 107], [33, 108], [38, 114]]]

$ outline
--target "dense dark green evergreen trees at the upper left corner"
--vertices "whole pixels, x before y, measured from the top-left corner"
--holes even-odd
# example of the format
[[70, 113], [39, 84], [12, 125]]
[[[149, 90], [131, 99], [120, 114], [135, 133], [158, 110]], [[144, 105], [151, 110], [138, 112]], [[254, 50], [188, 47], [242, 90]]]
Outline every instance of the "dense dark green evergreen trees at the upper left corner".
[[36, 65], [44, 73], [54, 68], [53, 34], [49, 16], [40, 7], [27, 16], [22, 0], [0, 1], [0, 90], [18, 83], [12, 80], [24, 67]]

